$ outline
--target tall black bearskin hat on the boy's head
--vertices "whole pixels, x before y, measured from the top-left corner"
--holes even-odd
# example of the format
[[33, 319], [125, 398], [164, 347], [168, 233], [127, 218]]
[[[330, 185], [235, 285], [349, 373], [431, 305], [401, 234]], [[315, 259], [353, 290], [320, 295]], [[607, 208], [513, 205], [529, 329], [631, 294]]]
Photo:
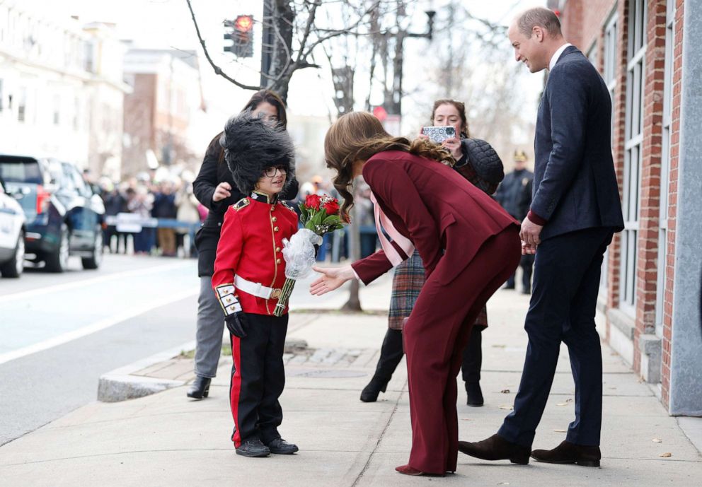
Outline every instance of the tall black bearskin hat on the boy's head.
[[285, 192], [295, 179], [295, 148], [282, 127], [271, 127], [263, 119], [244, 112], [231, 117], [219, 138], [224, 158], [239, 191], [251, 194], [267, 168], [285, 168]]

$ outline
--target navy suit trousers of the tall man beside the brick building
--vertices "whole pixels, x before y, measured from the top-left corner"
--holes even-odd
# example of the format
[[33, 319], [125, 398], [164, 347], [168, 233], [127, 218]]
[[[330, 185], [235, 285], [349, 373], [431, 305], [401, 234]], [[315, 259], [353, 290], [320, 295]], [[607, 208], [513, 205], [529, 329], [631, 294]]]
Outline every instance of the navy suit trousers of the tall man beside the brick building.
[[589, 228], [551, 237], [536, 250], [534, 291], [524, 324], [529, 346], [514, 411], [497, 432], [502, 438], [531, 446], [563, 342], [575, 381], [575, 421], [566, 440], [599, 445], [602, 349], [594, 315], [602, 257], [611, 238], [611, 228]]

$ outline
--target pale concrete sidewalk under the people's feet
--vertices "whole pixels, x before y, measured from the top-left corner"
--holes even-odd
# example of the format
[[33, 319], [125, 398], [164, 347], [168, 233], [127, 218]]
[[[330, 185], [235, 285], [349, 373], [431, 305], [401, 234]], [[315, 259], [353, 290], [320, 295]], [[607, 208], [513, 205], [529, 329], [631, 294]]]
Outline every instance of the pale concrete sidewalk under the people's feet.
[[[367, 307], [388, 303], [386, 284], [368, 288]], [[459, 390], [460, 438], [495, 433], [519, 385], [528, 299], [498, 291], [483, 334], [485, 406], [465, 405]], [[386, 330], [382, 315], [291, 315], [289, 338], [310, 350], [287, 356], [281, 403], [284, 438], [300, 452], [265, 459], [239, 457], [229, 440], [229, 360], [209, 399], [190, 401], [185, 387], [119, 403], [95, 402], [0, 447], [0, 485], [11, 486], [393, 486], [427, 482], [473, 486], [694, 486], [702, 457], [652, 390], [604, 346], [602, 468], [532, 462], [481, 462], [459, 454], [455, 475], [409, 477], [394, 467], [410, 449], [404, 363], [372, 404], [359, 392], [372, 375]], [[298, 358], [299, 357], [299, 358]], [[534, 447], [565, 438], [573, 416], [573, 385], [563, 348]], [[669, 455], [668, 455], [669, 454]]]

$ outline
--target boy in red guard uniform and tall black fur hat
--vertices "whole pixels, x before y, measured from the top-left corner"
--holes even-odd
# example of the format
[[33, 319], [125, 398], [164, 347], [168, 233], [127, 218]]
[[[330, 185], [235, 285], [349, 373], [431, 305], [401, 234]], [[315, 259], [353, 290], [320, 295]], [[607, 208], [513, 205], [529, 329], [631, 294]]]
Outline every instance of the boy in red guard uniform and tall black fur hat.
[[284, 129], [248, 114], [229, 119], [220, 143], [236, 186], [250, 195], [224, 215], [212, 275], [231, 333], [232, 440], [244, 457], [292, 454], [297, 445], [277, 429], [288, 316], [273, 310], [285, 282], [282, 240], [297, 232], [297, 213], [277, 201], [294, 180], [294, 147]]

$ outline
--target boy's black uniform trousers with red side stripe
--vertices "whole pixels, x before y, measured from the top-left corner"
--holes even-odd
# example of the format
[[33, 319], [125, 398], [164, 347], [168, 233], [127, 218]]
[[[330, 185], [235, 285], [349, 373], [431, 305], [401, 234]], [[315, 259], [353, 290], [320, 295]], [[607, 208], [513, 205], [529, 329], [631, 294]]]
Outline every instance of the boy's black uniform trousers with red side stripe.
[[285, 387], [283, 349], [288, 316], [246, 313], [246, 338], [231, 336], [229, 403], [234, 417], [234, 446], [259, 438], [267, 445], [280, 438], [283, 411], [278, 398]]

